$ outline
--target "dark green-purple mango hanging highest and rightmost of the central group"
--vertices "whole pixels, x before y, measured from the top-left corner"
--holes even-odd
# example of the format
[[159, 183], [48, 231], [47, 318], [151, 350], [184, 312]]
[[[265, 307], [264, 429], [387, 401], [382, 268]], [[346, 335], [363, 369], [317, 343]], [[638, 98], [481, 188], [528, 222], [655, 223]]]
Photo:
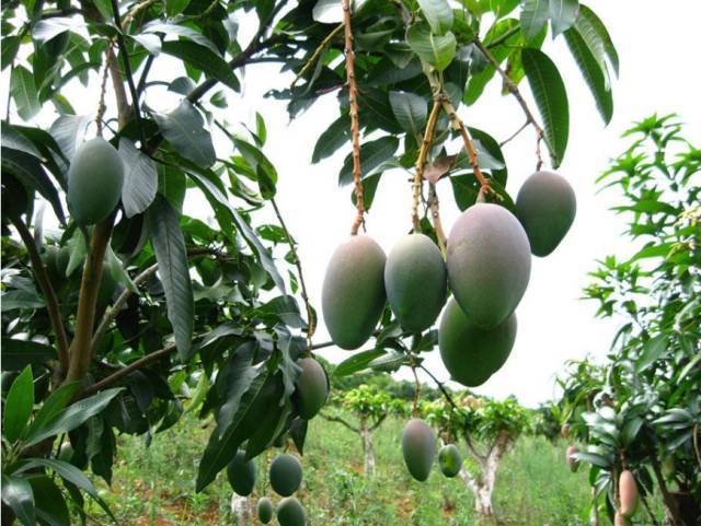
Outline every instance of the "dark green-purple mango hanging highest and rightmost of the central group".
[[533, 256], [551, 254], [572, 226], [577, 200], [567, 179], [554, 172], [536, 172], [516, 197], [516, 215]]

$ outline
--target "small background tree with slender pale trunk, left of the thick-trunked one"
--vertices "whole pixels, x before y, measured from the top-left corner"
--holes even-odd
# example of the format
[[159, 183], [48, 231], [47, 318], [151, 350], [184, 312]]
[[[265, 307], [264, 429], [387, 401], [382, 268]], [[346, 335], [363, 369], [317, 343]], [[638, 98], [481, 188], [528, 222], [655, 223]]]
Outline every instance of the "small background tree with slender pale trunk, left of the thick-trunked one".
[[[325, 411], [321, 417], [330, 422], [338, 422], [360, 436], [365, 472], [372, 475], [377, 465], [372, 434], [389, 416], [405, 417], [409, 413], [409, 405], [404, 400], [391, 398], [377, 387], [360, 385], [346, 393], [336, 394], [331, 406], [340, 411]], [[348, 416], [355, 421], [349, 420]]]

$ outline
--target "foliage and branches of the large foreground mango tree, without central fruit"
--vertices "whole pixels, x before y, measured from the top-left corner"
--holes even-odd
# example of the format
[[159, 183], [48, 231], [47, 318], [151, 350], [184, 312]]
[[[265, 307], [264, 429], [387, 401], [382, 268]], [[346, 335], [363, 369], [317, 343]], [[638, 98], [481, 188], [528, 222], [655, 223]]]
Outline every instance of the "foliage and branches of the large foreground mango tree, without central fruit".
[[[108, 482], [116, 434], [173, 425], [183, 410], [175, 394], [200, 371], [211, 383], [204, 383], [199, 414], [215, 416], [217, 426], [197, 490], [240, 446], [254, 457], [292, 429], [302, 449], [296, 361], [314, 349], [317, 319], [275, 200], [278, 172], [264, 153], [265, 124], [260, 115], [255, 122], [227, 120], [235, 110], [227, 107], [227, 91], [242, 91], [244, 67], [272, 61], [297, 77], [291, 86], [271, 79], [269, 94], [289, 102], [290, 116], [337, 94], [340, 115], [319, 138], [312, 162], [353, 136], [355, 152], [338, 178], [355, 182], [355, 230], [382, 173], [416, 165], [411, 222], [445, 248], [440, 179], [451, 182], [461, 209], [480, 190], [513, 206], [498, 142], [468, 128], [458, 113], [495, 75], [527, 122], [514, 137], [529, 126], [536, 132], [533, 164], [543, 163], [543, 143], [551, 164], [562, 162], [567, 98], [556, 66], [540, 50], [548, 33], [564, 35], [610, 119], [609, 68], [618, 70], [611, 39], [590, 9], [576, 0], [556, 3], [368, 1], [344, 11], [327, 0], [4, 2], [10, 94], [2, 121], [1, 329], [9, 373], [3, 443], [12, 455], [3, 456], [3, 487], [13, 490], [2, 498], [18, 518], [66, 524], [32, 490], [26, 463], [41, 460], [32, 476], [60, 478], [61, 499], [82, 509], [82, 495], [70, 489], [80, 487], [77, 474], [90, 467]], [[250, 39], [239, 35], [239, 20], [255, 26]], [[524, 79], [542, 122], [520, 94]], [[179, 102], [156, 110], [150, 101], [163, 90]], [[87, 97], [94, 97], [94, 112], [77, 115], [77, 102]], [[68, 173], [93, 136], [110, 141], [126, 170], [119, 195], [107, 196], [118, 204], [96, 224], [79, 224], [74, 203], [66, 202]], [[85, 194], [77, 188], [83, 200], [94, 197]], [[209, 204], [211, 222], [183, 212], [195, 194]], [[275, 212], [277, 223], [264, 222], [262, 210]], [[388, 311], [374, 349], [356, 354], [353, 367], [421, 365], [435, 331], [410, 335], [410, 343], [398, 328]], [[64, 420], [71, 397], [87, 404], [107, 394], [110, 404], [88, 421]], [[32, 420], [32, 398], [42, 408], [51, 400], [56, 413]], [[262, 407], [274, 408], [263, 420]], [[28, 446], [33, 426], [53, 434]], [[56, 458], [61, 440], [72, 446], [70, 463]]]

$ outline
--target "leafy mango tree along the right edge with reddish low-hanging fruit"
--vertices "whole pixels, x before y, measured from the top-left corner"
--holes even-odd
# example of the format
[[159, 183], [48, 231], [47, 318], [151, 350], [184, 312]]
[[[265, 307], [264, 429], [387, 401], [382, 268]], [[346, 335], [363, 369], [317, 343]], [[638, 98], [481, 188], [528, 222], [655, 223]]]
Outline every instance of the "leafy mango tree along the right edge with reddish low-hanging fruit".
[[625, 137], [631, 147], [600, 180], [621, 194], [614, 210], [635, 252], [607, 256], [585, 291], [600, 316], [624, 323], [605, 362], [570, 364], [560, 410], [611, 521], [691, 526], [701, 516], [701, 151], [675, 116]]

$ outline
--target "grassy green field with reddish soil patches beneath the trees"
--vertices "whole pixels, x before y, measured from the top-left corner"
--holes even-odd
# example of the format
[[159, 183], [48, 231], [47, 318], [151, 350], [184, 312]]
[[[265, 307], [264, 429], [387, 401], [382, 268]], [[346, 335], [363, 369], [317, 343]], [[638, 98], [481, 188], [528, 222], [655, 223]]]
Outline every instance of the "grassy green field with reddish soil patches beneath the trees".
[[[434, 471], [425, 483], [415, 482], [404, 468], [399, 439], [403, 422], [388, 420], [375, 435], [377, 474], [363, 475], [360, 440], [340, 424], [315, 419], [310, 425], [303, 488], [298, 495], [311, 525], [471, 525], [476, 516], [473, 499], [459, 478]], [[223, 474], [203, 493], [194, 492], [197, 461], [211, 426], [194, 419], [153, 437], [119, 439], [112, 490], [102, 494], [123, 525], [232, 525], [231, 490]], [[263, 459], [254, 496], [267, 494]], [[499, 524], [508, 526], [586, 525], [586, 475], [571, 474], [564, 444], [553, 447], [543, 439], [524, 437], [509, 453], [498, 475], [495, 507]], [[252, 502], [255, 502], [254, 500]], [[108, 519], [92, 506], [91, 524]]]

